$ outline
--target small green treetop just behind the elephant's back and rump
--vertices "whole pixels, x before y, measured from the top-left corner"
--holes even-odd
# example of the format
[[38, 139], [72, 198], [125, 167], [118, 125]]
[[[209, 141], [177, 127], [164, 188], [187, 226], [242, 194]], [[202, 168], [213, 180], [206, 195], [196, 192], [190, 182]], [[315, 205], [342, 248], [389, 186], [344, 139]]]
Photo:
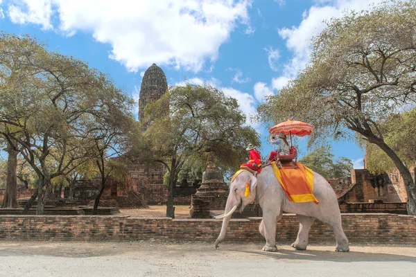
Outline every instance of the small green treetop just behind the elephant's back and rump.
[[326, 179], [350, 177], [353, 168], [352, 161], [345, 157], [333, 162], [333, 154], [328, 148], [317, 148], [300, 159], [300, 163], [311, 168]]

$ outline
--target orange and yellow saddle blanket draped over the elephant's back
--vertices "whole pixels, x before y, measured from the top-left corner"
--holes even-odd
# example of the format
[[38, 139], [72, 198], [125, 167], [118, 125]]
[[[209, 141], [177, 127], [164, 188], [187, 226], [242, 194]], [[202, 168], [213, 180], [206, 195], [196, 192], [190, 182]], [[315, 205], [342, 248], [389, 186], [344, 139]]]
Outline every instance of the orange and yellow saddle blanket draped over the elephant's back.
[[273, 172], [291, 202], [314, 202], [319, 204], [313, 196], [313, 171], [297, 162], [297, 169], [278, 168], [272, 161]]

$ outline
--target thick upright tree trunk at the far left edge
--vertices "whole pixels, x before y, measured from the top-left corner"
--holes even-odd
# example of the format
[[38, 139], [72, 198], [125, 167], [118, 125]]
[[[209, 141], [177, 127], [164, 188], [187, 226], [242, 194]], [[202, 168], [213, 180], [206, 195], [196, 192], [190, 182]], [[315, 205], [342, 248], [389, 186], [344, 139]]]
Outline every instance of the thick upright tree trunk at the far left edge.
[[17, 154], [19, 151], [15, 150], [13, 145], [8, 143], [6, 149], [8, 152], [7, 159], [7, 181], [6, 181], [6, 193], [4, 195], [3, 204], [1, 208], [20, 208], [17, 203]]

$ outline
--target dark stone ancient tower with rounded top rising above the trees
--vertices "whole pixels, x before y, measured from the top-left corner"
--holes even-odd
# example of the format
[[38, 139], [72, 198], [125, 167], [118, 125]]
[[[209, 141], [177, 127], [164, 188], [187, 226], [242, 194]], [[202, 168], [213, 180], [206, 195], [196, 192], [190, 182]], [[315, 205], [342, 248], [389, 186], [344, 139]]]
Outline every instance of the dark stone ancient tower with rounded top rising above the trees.
[[139, 121], [143, 121], [144, 109], [150, 102], [158, 100], [168, 89], [166, 75], [156, 64], [152, 64], [141, 80], [139, 95]]

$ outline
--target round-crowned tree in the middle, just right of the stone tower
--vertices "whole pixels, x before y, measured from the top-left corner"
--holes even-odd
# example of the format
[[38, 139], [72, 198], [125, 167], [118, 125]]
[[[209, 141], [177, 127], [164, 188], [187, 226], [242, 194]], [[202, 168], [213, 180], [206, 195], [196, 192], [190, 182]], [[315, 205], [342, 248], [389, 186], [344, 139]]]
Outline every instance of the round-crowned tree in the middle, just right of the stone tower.
[[245, 145], [260, 144], [257, 132], [243, 126], [237, 101], [208, 85], [172, 87], [148, 105], [145, 124], [151, 161], [169, 172], [166, 217], [175, 217], [173, 188], [185, 161], [211, 156], [220, 167], [236, 167], [247, 158]]

